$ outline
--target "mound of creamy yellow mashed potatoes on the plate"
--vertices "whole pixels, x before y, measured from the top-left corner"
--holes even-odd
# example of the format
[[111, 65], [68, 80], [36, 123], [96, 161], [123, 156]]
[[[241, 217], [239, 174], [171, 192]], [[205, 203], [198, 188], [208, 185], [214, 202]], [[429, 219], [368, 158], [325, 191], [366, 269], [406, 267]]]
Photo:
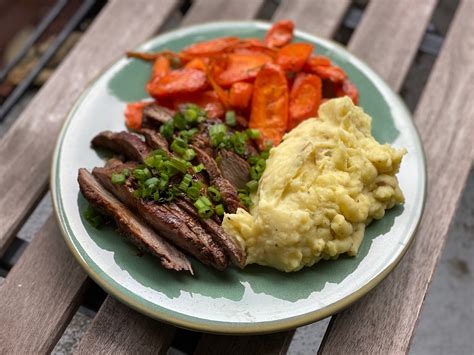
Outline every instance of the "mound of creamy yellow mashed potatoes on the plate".
[[406, 151], [379, 144], [371, 118], [333, 99], [271, 150], [250, 213], [226, 214], [224, 230], [247, 264], [297, 271], [356, 255], [365, 226], [404, 197], [395, 174]]

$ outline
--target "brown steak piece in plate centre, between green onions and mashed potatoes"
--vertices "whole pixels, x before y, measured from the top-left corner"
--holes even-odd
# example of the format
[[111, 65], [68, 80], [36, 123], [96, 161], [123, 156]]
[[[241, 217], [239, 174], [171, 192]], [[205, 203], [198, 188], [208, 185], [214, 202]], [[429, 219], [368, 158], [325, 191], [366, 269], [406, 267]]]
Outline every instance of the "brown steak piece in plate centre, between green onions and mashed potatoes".
[[247, 161], [229, 150], [221, 150], [216, 161], [225, 179], [237, 189], [245, 188], [245, 184], [250, 180], [250, 164]]

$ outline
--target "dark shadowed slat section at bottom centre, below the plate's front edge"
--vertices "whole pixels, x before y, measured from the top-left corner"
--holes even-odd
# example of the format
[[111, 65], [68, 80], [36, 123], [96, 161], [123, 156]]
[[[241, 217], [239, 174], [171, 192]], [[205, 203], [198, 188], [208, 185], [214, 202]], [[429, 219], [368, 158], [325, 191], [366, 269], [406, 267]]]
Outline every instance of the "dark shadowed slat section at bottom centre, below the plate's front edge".
[[204, 334], [195, 355], [286, 354], [294, 330], [254, 336]]

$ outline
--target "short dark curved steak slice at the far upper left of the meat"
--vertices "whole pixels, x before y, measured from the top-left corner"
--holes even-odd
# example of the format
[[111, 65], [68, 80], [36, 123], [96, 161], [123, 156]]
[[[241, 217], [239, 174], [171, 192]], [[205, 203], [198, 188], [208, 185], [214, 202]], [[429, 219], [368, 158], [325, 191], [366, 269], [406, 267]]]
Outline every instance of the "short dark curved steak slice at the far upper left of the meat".
[[92, 139], [94, 148], [105, 148], [123, 154], [129, 160], [143, 162], [150, 154], [150, 148], [136, 135], [129, 132], [100, 132]]

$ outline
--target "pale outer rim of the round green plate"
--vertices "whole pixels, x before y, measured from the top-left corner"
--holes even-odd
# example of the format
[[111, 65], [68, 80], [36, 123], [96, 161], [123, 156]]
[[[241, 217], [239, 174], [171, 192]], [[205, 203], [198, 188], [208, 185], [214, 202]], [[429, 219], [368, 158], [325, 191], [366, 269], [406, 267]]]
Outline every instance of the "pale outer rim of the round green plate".
[[[239, 26], [242, 28], [254, 27], [257, 29], [266, 30], [271, 26], [271, 24], [266, 23], [266, 22], [261, 22], [261, 21], [211, 22], [211, 23], [186, 27], [186, 28], [182, 28], [182, 29], [178, 29], [178, 30], [161, 34], [160, 36], [155, 37], [154, 39], [151, 39], [145, 42], [144, 44], [140, 45], [137, 50], [146, 50], [147, 48], [150, 48], [152, 44], [156, 42], [158, 39], [160, 39], [161, 43], [165, 43], [167, 40], [170, 40], [172, 38], [185, 37], [186, 35], [190, 33], [200, 31], [200, 30], [218, 31], [222, 27], [228, 28], [228, 27], [239, 27]], [[404, 111], [404, 114], [406, 116], [411, 117], [411, 114], [409, 113], [403, 101], [400, 99], [400, 97], [396, 93], [394, 93], [390, 89], [390, 87], [383, 81], [383, 79], [381, 79], [380, 76], [376, 74], [367, 64], [365, 64], [360, 59], [356, 58], [354, 55], [350, 54], [343, 46], [331, 40], [323, 39], [318, 36], [314, 36], [314, 35], [299, 31], [299, 30], [295, 31], [295, 35], [310, 42], [320, 42], [324, 44], [324, 46], [326, 46], [327, 48], [336, 50], [339, 53], [343, 53], [347, 58], [350, 59], [351, 63], [356, 65], [364, 73], [364, 75], [367, 76], [374, 83], [374, 85], [377, 86], [377, 89], [380, 90], [380, 92], [384, 95], [384, 97], [387, 97], [387, 96], [390, 97], [390, 100], [392, 102], [395, 102], [396, 105], [402, 111]], [[53, 164], [51, 168], [51, 180], [50, 180], [53, 208], [54, 208], [56, 217], [59, 221], [61, 232], [64, 236], [64, 239], [66, 241], [68, 248], [71, 250], [72, 254], [76, 258], [76, 260], [79, 262], [79, 264], [82, 266], [82, 268], [87, 272], [87, 274], [97, 284], [99, 284], [99, 286], [101, 286], [107, 293], [114, 296], [122, 303], [126, 304], [127, 306], [135, 309], [136, 311], [140, 313], [143, 313], [147, 316], [163, 321], [165, 323], [169, 323], [169, 324], [172, 324], [181, 328], [185, 328], [185, 329], [207, 332], [207, 333], [215, 333], [215, 334], [236, 334], [236, 335], [272, 333], [272, 332], [293, 329], [302, 325], [313, 323], [315, 321], [321, 320], [323, 318], [326, 318], [328, 316], [331, 316], [343, 310], [344, 308], [348, 307], [350, 304], [354, 303], [359, 298], [364, 296], [370, 290], [372, 290], [378, 283], [380, 283], [395, 268], [395, 266], [400, 262], [402, 257], [405, 255], [406, 251], [408, 250], [411, 243], [413, 242], [414, 236], [420, 224], [421, 217], [424, 211], [424, 206], [425, 206], [425, 201], [426, 201], [426, 191], [427, 191], [427, 181], [426, 181], [427, 169], [426, 169], [425, 153], [424, 153], [423, 145], [421, 143], [418, 130], [413, 123], [411, 123], [411, 127], [406, 127], [406, 128], [411, 129], [414, 132], [416, 141], [413, 143], [414, 145], [418, 146], [421, 151], [421, 160], [423, 164], [422, 171], [424, 174], [421, 177], [421, 185], [423, 188], [423, 192], [422, 192], [423, 201], [422, 201], [421, 207], [417, 211], [415, 211], [417, 214], [414, 217], [417, 220], [417, 222], [411, 227], [410, 232], [409, 232], [409, 240], [404, 245], [404, 248], [397, 255], [397, 257], [390, 264], [385, 265], [385, 268], [382, 271], [380, 271], [372, 280], [370, 280], [370, 282], [364, 284], [353, 293], [349, 294], [348, 296], [344, 298], [341, 298], [339, 301], [332, 303], [326, 307], [323, 307], [316, 311], [308, 312], [300, 316], [286, 318], [284, 320], [269, 321], [269, 322], [255, 322], [255, 323], [250, 323], [250, 324], [249, 323], [231, 323], [231, 322], [227, 322], [225, 324], [223, 324], [222, 322], [218, 324], [213, 324], [212, 321], [206, 321], [203, 319], [197, 319], [197, 320], [182, 319], [176, 316], [165, 314], [159, 309], [147, 307], [144, 303], [137, 301], [136, 298], [140, 299], [139, 296], [135, 296], [134, 298], [133, 296], [127, 295], [126, 292], [120, 290], [120, 287], [119, 287], [120, 285], [114, 284], [115, 281], [111, 279], [110, 280], [104, 279], [99, 274], [98, 270], [94, 269], [91, 265], [89, 265], [89, 263], [86, 261], [85, 256], [81, 254], [81, 251], [74, 244], [73, 240], [75, 239], [75, 237], [74, 237], [73, 231], [70, 229], [70, 226], [68, 224], [68, 219], [64, 211], [63, 202], [59, 194], [59, 157], [60, 157], [61, 148], [64, 142], [64, 136], [67, 131], [67, 128], [69, 124], [71, 123], [75, 112], [77, 111], [77, 109], [79, 108], [79, 106], [81, 105], [81, 103], [83, 102], [83, 100], [85, 99], [89, 91], [91, 90], [94, 83], [107, 70], [109, 70], [112, 66], [117, 64], [118, 60], [114, 61], [110, 66], [108, 66], [103, 71], [101, 71], [87, 85], [83, 93], [80, 95], [80, 97], [77, 99], [74, 106], [69, 111], [67, 118], [65, 122], [63, 123], [63, 127], [59, 134], [56, 147], [53, 153]], [[194, 317], [189, 316], [189, 318], [194, 318]]]

